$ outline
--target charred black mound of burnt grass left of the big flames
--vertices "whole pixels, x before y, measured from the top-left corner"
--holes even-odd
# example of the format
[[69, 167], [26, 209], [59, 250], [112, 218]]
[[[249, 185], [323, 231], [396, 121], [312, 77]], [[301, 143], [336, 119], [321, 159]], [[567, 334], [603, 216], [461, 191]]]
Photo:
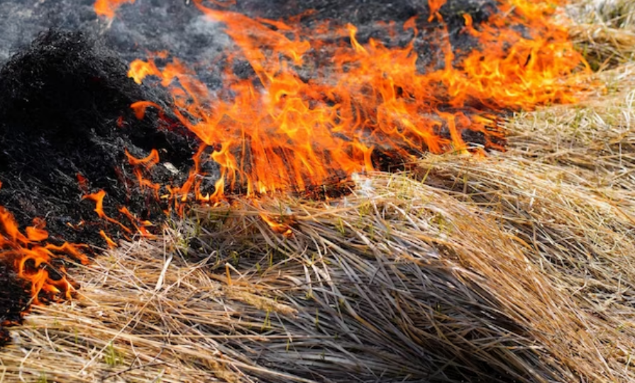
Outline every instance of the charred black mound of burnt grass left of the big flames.
[[[155, 182], [187, 174], [197, 142], [170, 118], [166, 99], [128, 78], [126, 63], [84, 33], [41, 34], [0, 69], [0, 205], [21, 226], [45, 218], [54, 241], [90, 244], [99, 230], [89, 223], [99, 220], [94, 202], [82, 200], [89, 192], [106, 191], [112, 216], [127, 206], [140, 218], [162, 218], [163, 206], [132, 189], [125, 150], [143, 157], [157, 149], [180, 170], [158, 166]], [[131, 104], [145, 100], [166, 116], [152, 109], [138, 120]]]

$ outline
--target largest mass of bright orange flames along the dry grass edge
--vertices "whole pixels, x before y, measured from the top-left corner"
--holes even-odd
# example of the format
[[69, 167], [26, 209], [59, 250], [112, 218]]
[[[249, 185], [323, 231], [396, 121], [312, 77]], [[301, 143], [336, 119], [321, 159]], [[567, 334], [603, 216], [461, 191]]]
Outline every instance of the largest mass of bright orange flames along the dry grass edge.
[[[444, 3], [429, 1], [431, 17], [441, 23]], [[221, 168], [212, 196], [198, 191], [198, 165], [185, 185], [171, 188], [172, 196], [184, 201], [194, 191], [209, 201], [226, 190], [302, 191], [375, 170], [377, 156], [403, 162], [426, 151], [481, 151], [465, 143], [466, 131], [481, 135], [485, 148], [504, 149], [497, 114], [575, 101], [580, 87], [565, 78], [583, 60], [566, 29], [551, 21], [553, 4], [500, 3], [478, 26], [465, 14], [462, 33], [476, 38], [477, 48], [454, 52], [442, 30], [436, 37], [443, 62], [420, 70], [414, 39], [396, 48], [373, 39], [360, 43], [352, 25], [305, 30], [194, 0], [211, 20], [226, 25], [258, 84], [228, 69], [224, 91], [211, 94], [177, 58], [162, 67], [153, 57], [131, 63], [129, 76], [138, 83], [158, 77], [172, 91], [180, 122], [214, 148], [195, 162], [213, 160]], [[414, 19], [403, 27], [418, 32]], [[350, 43], [327, 45], [312, 37], [324, 30]], [[328, 58], [316, 60], [316, 52]], [[307, 68], [311, 79], [300, 74]], [[133, 108], [141, 117], [148, 106]]]

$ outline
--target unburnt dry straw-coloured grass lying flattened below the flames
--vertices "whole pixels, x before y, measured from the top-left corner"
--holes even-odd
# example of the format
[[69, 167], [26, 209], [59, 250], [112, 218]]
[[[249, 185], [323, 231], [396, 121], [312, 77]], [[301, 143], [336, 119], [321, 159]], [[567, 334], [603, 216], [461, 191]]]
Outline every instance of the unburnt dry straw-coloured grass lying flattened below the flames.
[[635, 66], [600, 78], [507, 121], [507, 152], [106, 252], [12, 331], [0, 382], [634, 381]]

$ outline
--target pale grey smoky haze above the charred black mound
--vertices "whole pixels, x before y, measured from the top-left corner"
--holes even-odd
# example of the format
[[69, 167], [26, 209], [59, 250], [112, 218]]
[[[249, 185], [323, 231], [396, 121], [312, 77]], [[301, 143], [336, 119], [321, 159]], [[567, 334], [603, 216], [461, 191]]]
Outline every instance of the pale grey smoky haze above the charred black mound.
[[4, 0], [0, 2], [0, 63], [50, 28], [82, 30], [116, 50], [123, 60], [167, 50], [194, 61], [214, 61], [230, 43], [219, 24], [204, 20], [185, 1], [138, 0], [100, 19], [94, 0]]

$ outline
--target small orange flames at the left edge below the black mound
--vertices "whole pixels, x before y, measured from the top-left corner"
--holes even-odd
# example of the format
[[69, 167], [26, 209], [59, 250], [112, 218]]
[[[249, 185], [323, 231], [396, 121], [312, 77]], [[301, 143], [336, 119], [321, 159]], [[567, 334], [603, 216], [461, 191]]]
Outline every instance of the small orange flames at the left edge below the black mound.
[[33, 304], [57, 299], [69, 299], [77, 288], [65, 276], [60, 261], [77, 260], [88, 263], [79, 250], [81, 246], [64, 243], [53, 245], [45, 242], [49, 235], [41, 218], [33, 219], [33, 226], [24, 232], [13, 215], [0, 206], [0, 262], [12, 262], [18, 277], [30, 289]]

